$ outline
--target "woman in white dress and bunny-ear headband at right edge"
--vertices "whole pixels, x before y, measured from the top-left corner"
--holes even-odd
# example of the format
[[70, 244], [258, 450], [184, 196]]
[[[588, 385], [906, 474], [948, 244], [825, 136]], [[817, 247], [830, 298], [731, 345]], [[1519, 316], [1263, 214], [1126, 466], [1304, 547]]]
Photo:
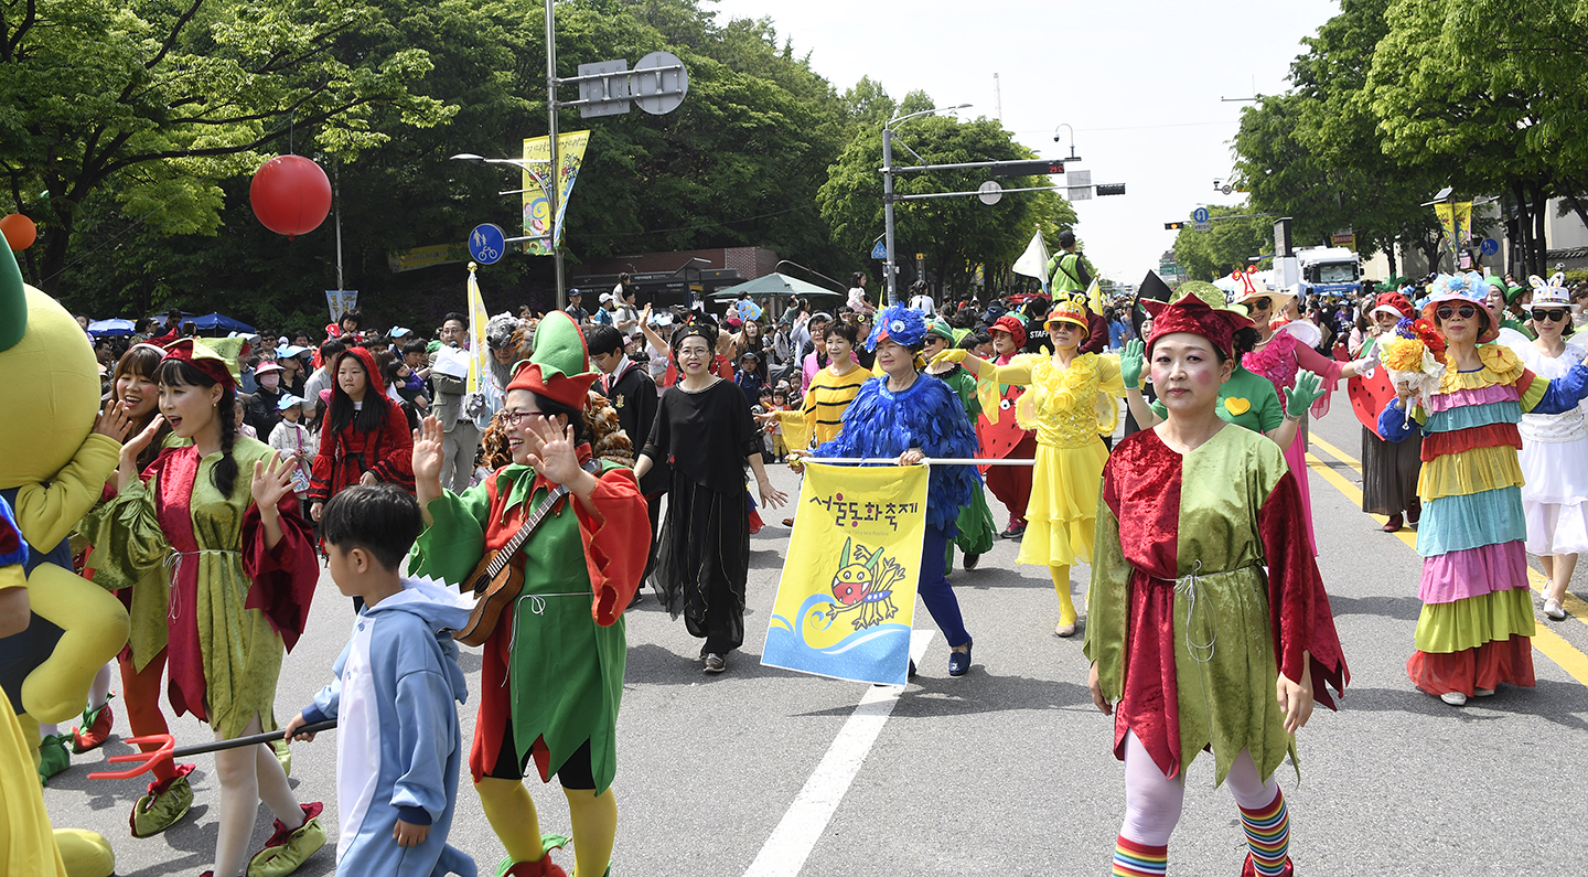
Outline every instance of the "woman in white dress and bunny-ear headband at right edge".
[[[1547, 281], [1534, 276], [1532, 329], [1528, 342], [1510, 332], [1501, 340], [1540, 378], [1561, 378], [1583, 359], [1583, 342], [1572, 334], [1571, 294], [1564, 276]], [[1577, 569], [1577, 554], [1588, 551], [1588, 421], [1580, 407], [1559, 415], [1521, 415], [1521, 508], [1528, 515], [1528, 553], [1537, 554], [1550, 578], [1544, 591], [1544, 613], [1566, 618], [1561, 601]]]

